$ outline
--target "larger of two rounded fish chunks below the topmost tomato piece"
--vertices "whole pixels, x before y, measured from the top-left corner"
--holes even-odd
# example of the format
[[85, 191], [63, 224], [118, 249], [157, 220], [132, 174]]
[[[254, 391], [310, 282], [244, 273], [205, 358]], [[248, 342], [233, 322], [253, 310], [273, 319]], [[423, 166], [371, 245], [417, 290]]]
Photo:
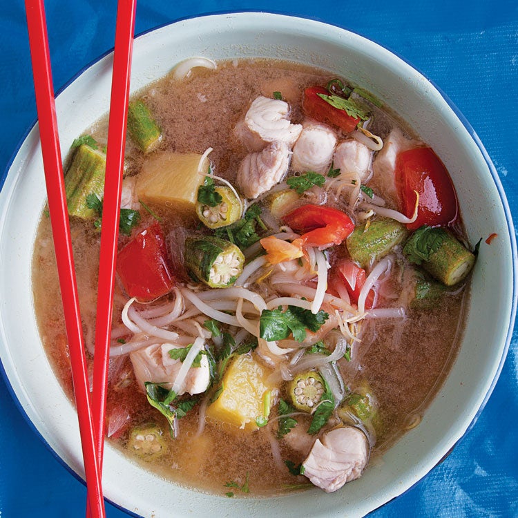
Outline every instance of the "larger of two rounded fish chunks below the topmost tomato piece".
[[303, 126], [293, 149], [291, 169], [299, 173], [314, 171], [323, 175], [329, 171], [336, 133], [325, 124], [307, 123]]

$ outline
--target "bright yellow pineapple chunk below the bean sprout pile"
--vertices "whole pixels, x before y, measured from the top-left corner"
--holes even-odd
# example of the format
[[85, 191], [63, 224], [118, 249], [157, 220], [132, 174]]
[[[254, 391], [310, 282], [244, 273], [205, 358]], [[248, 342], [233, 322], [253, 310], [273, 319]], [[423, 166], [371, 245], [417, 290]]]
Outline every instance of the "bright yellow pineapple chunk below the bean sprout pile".
[[207, 408], [207, 416], [245, 430], [257, 430], [263, 416], [268, 374], [251, 354], [238, 356], [223, 376], [223, 390]]

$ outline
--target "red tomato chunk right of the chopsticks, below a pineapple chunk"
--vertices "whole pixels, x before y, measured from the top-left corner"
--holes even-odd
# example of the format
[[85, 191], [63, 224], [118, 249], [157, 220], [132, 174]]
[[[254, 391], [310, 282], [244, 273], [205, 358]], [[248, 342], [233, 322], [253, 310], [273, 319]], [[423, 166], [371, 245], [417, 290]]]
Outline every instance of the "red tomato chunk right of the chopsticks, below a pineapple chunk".
[[171, 291], [173, 276], [167, 265], [164, 234], [155, 222], [117, 254], [117, 274], [131, 297], [148, 301]]

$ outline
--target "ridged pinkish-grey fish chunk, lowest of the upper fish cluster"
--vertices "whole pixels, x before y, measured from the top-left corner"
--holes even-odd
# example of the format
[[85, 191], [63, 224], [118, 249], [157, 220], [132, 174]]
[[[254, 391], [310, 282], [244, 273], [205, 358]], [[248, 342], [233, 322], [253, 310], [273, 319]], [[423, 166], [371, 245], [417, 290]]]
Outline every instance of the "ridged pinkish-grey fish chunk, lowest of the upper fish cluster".
[[289, 167], [291, 151], [285, 142], [271, 142], [262, 151], [249, 153], [238, 169], [237, 182], [247, 198], [257, 198], [278, 184]]

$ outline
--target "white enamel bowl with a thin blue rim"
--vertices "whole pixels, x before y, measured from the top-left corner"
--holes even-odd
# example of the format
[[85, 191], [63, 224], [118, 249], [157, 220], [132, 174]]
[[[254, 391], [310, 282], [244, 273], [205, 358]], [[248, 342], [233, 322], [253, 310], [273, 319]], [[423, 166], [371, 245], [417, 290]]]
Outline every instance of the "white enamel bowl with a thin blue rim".
[[[180, 21], [135, 40], [132, 90], [193, 55], [289, 59], [328, 68], [370, 90], [400, 113], [447, 166], [470, 242], [491, 233], [499, 238], [481, 247], [466, 332], [448, 379], [422, 423], [358, 481], [332, 495], [314, 489], [271, 499], [228, 499], [151, 477], [108, 446], [105, 495], [145, 517], [365, 515], [401, 495], [443, 458], [477, 418], [501, 370], [516, 309], [516, 244], [501, 184], [477, 136], [448, 99], [405, 61], [352, 32], [258, 12]], [[77, 135], [108, 111], [112, 58], [97, 61], [58, 96], [63, 154]], [[45, 199], [35, 126], [0, 193], [0, 356], [23, 412], [50, 448], [83, 477], [75, 410], [52, 373], [32, 310], [32, 247]], [[12, 293], [17, 297], [5, 296]]]

